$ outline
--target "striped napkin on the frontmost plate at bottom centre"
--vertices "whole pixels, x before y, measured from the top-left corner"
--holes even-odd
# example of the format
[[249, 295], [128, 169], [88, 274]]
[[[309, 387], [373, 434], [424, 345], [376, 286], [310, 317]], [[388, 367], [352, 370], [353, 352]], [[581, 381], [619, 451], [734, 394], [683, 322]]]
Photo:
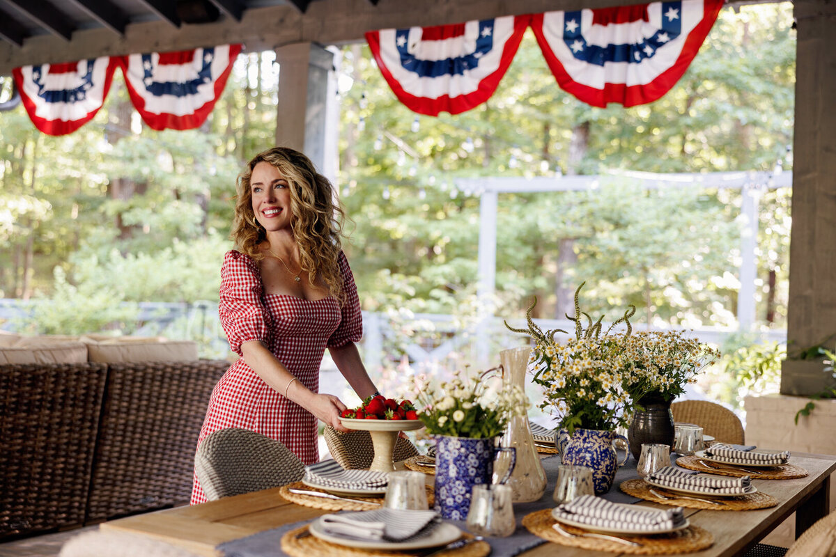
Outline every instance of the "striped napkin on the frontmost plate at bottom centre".
[[375, 509], [324, 514], [320, 524], [344, 538], [404, 542], [430, 534], [441, 524], [441, 515], [434, 510]]

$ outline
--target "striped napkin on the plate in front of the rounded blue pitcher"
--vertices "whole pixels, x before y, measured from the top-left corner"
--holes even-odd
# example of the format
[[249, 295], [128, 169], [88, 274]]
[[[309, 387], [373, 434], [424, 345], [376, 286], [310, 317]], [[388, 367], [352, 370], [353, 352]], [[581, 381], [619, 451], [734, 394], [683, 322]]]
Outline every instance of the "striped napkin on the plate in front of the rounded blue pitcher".
[[667, 532], [686, 523], [682, 507], [644, 509], [627, 504], [610, 503], [594, 495], [581, 495], [552, 511], [552, 516], [586, 524], [593, 528], [619, 529], [630, 532]]

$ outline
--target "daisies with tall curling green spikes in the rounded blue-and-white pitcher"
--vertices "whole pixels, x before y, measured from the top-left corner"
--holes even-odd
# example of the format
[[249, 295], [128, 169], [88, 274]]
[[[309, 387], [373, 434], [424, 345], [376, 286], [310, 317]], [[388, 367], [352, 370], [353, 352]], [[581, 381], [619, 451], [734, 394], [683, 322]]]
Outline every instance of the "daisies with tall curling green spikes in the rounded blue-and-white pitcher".
[[[555, 342], [560, 329], [543, 332], [533, 322], [531, 313], [537, 300], [528, 308], [528, 329], [506, 327], [532, 337], [534, 348], [528, 365], [533, 369], [533, 381], [543, 387], [543, 403], [540, 408], [552, 407], [560, 418], [560, 427], [571, 434], [575, 428], [612, 430], [626, 426], [634, 402], [624, 388], [625, 373], [632, 365], [630, 354], [624, 346], [630, 338], [630, 317], [635, 306], [624, 311], [624, 316], [601, 334], [603, 316], [597, 321], [580, 311], [578, 296], [584, 284], [574, 294], [575, 317], [567, 318], [575, 323], [575, 337], [567, 342]], [[586, 319], [586, 327], [582, 322]], [[613, 332], [624, 323], [625, 330]]]

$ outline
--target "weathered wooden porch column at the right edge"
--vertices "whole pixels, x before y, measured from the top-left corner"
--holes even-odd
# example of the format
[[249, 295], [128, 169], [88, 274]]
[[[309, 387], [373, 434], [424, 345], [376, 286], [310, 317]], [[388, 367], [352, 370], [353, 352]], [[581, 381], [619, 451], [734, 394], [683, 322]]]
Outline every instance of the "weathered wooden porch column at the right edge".
[[[836, 4], [796, 0], [798, 50], [790, 237], [788, 353], [836, 341]], [[810, 395], [833, 379], [821, 362], [788, 358], [782, 394]]]

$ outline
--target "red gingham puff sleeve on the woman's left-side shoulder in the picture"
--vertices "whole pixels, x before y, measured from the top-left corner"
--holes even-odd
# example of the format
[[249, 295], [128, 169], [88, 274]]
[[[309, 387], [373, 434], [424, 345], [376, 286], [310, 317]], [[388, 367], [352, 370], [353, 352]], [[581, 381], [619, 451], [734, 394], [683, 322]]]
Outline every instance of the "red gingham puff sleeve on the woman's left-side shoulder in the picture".
[[251, 257], [227, 251], [221, 267], [220, 294], [218, 315], [232, 352], [242, 356], [242, 342], [267, 341], [268, 316], [262, 302], [261, 271]]

